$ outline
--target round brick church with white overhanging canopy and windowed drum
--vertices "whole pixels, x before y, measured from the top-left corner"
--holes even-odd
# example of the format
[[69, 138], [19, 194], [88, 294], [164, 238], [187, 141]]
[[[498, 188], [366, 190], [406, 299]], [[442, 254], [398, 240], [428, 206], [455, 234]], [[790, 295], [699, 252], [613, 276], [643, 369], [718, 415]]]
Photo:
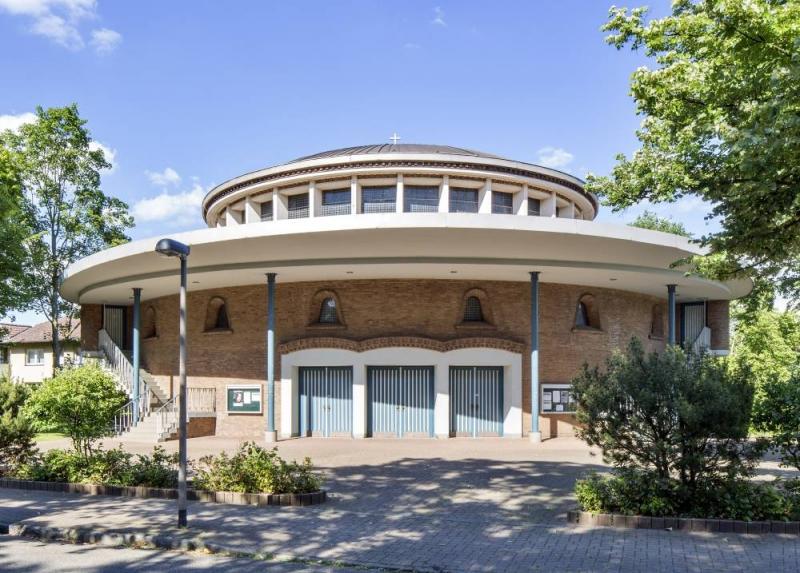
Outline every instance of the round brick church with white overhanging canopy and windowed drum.
[[[595, 223], [598, 208], [571, 175], [435, 145], [329, 151], [215, 187], [208, 228], [171, 236], [191, 247], [196, 431], [536, 441], [572, 431], [571, 378], [632, 336], [727, 352], [728, 301], [749, 282], [687, 275], [672, 265], [697, 246]], [[81, 304], [84, 352], [125, 380], [140, 364], [123, 380], [145, 404], [133, 431], [163, 437], [179, 278], [160, 238], [75, 263], [62, 293]]]

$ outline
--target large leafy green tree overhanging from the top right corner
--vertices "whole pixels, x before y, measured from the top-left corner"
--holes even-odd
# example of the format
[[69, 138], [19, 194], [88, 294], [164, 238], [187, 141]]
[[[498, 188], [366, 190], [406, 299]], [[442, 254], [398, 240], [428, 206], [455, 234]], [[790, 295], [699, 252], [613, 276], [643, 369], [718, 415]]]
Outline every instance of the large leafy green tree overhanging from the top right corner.
[[800, 3], [675, 0], [664, 18], [613, 7], [603, 30], [656, 63], [631, 78], [643, 116], [632, 156], [587, 188], [615, 209], [695, 195], [711, 205], [731, 274], [800, 290]]

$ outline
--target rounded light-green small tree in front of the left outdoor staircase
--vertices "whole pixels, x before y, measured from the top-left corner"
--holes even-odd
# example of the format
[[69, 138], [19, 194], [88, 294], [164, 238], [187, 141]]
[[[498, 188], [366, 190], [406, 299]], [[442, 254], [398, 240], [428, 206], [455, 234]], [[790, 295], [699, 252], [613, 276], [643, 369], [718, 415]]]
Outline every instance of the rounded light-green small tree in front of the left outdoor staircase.
[[126, 402], [109, 374], [87, 365], [65, 368], [42, 382], [25, 411], [68, 435], [75, 451], [89, 457], [97, 440], [111, 433], [114, 414]]

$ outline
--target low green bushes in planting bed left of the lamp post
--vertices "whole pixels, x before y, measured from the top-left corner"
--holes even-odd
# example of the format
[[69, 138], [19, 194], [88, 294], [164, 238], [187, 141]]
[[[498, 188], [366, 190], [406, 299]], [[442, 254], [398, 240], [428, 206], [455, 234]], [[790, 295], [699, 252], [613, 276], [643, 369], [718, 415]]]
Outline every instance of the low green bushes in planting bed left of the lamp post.
[[177, 454], [153, 448], [152, 456], [130, 454], [122, 447], [84, 455], [73, 450], [50, 450], [22, 464], [20, 479], [119, 486], [176, 487]]

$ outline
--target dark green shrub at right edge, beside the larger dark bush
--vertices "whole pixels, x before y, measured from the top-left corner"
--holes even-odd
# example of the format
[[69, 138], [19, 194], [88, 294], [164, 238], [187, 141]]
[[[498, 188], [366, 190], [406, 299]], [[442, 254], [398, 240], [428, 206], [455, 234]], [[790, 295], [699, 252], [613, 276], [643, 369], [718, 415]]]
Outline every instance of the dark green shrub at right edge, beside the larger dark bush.
[[753, 415], [755, 429], [770, 434], [781, 465], [800, 471], [800, 365], [786, 379], [775, 378], [761, 387]]

